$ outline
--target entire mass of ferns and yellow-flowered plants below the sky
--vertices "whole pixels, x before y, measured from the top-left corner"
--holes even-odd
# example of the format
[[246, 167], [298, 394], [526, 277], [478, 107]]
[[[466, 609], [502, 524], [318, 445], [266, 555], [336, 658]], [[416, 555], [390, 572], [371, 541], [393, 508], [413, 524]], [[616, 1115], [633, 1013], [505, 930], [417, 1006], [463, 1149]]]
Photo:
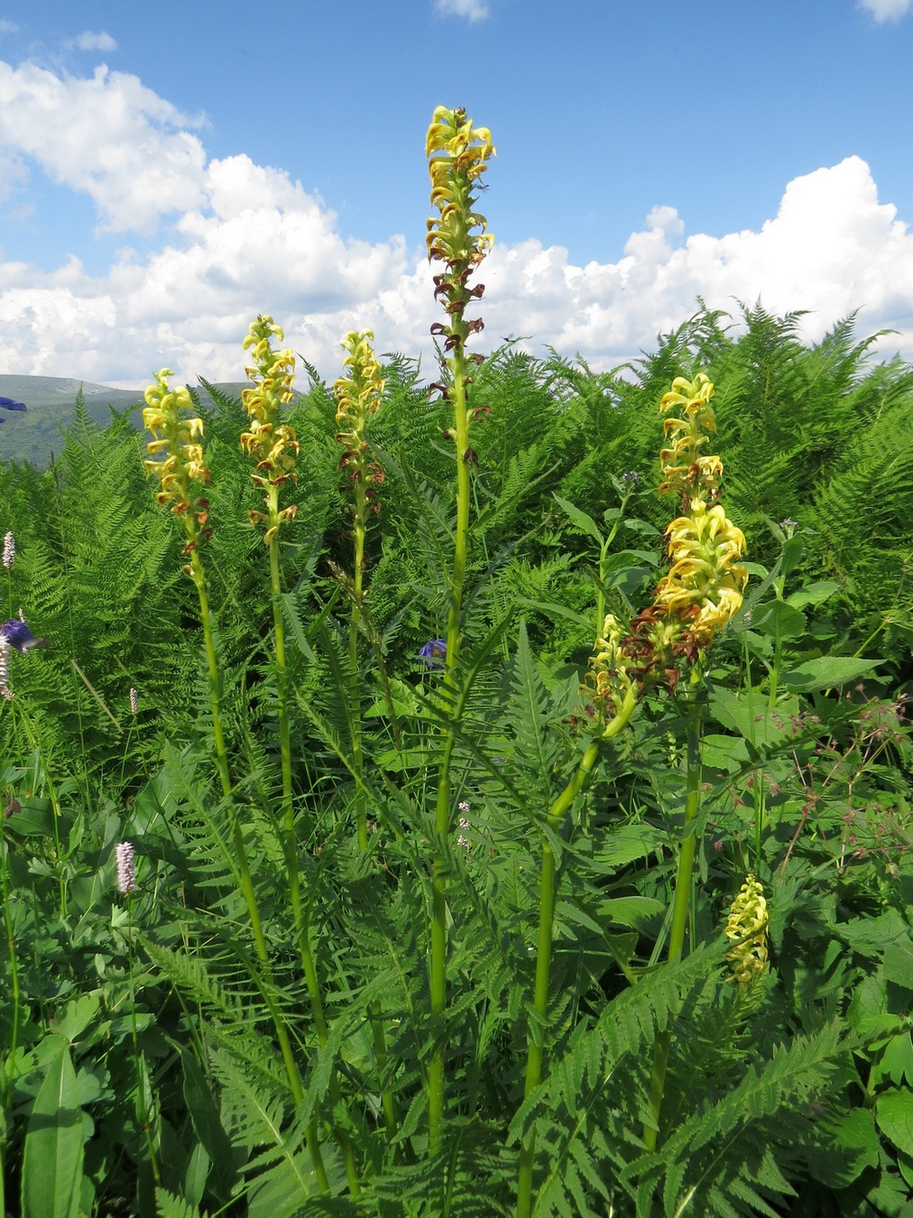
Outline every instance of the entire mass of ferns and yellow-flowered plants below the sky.
[[435, 111], [433, 385], [264, 313], [0, 469], [0, 1212], [908, 1213], [913, 371], [475, 350], [493, 153]]

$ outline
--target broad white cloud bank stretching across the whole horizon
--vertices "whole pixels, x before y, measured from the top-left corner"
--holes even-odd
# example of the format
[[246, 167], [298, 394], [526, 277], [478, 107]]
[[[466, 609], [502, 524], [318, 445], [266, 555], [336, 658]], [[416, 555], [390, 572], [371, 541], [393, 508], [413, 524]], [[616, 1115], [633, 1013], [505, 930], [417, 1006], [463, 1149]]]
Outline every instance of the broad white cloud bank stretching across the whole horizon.
[[[441, 313], [421, 234], [346, 239], [281, 168], [243, 153], [208, 160], [195, 124], [135, 77], [0, 63], [0, 169], [21, 179], [39, 163], [88, 194], [107, 228], [159, 225], [151, 252], [124, 247], [95, 275], [78, 251], [52, 272], [0, 251], [0, 365], [125, 387], [162, 367], [239, 380], [241, 339], [268, 312], [327, 378], [345, 334], [366, 328], [380, 351], [421, 353], [431, 371], [429, 328]], [[523, 337], [607, 367], [652, 348], [701, 296], [734, 312], [758, 298], [810, 309], [811, 340], [861, 308], [863, 331], [900, 331], [886, 353], [913, 357], [913, 234], [861, 158], [795, 178], [757, 231], [689, 234], [674, 202], [657, 201], [615, 261], [577, 266], [534, 238], [495, 245], [470, 313], [486, 323], [475, 350]]]

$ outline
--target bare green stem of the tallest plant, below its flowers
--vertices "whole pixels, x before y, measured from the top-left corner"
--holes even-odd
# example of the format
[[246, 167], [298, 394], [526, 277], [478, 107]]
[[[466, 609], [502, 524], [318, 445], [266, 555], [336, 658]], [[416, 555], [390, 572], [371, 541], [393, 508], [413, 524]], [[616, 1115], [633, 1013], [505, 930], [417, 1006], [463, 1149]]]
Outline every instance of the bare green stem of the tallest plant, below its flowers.
[[[450, 398], [454, 409], [454, 440], [456, 446], [456, 532], [454, 540], [453, 575], [450, 579], [450, 607], [447, 615], [447, 655], [444, 658], [443, 693], [449, 715], [456, 702], [456, 666], [460, 658], [460, 619], [463, 614], [463, 585], [466, 576], [466, 551], [469, 540], [469, 415], [466, 410], [466, 356], [464, 341], [466, 324], [454, 319], [454, 334], [459, 342], [454, 348], [453, 387]], [[435, 848], [431, 876], [431, 1037], [433, 1050], [429, 1063], [429, 1155], [441, 1150], [444, 1118], [444, 1063], [447, 1058], [447, 838], [450, 832], [450, 760], [455, 734], [452, 725], [443, 728], [443, 749], [437, 781], [435, 811]]]

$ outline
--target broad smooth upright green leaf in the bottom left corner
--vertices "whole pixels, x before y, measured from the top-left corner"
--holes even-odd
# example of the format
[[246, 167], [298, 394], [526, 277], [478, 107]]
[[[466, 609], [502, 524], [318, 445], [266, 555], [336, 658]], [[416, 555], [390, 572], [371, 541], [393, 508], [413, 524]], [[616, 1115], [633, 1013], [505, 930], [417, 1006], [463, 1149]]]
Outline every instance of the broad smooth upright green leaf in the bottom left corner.
[[83, 1186], [83, 1110], [69, 1046], [61, 1041], [28, 1121], [22, 1218], [77, 1218]]

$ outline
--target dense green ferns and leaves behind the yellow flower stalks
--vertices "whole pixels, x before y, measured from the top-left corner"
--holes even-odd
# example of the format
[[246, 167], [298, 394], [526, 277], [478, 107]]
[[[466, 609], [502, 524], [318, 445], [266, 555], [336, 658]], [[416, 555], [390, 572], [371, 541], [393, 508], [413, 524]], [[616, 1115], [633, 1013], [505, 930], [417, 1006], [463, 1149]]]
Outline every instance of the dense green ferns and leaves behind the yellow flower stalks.
[[[817, 346], [799, 340], [797, 323], [755, 307], [733, 326], [701, 309], [614, 373], [508, 346], [475, 374], [472, 402], [487, 418], [472, 431], [472, 680], [455, 766], [469, 827], [447, 847], [442, 1162], [424, 1157], [421, 1088], [429, 766], [442, 711], [435, 671], [416, 657], [446, 615], [455, 459], [446, 404], [430, 400], [414, 361], [388, 358], [371, 431], [386, 481], [362, 649], [371, 758], [362, 793], [376, 826], [368, 856], [352, 838], [335, 402], [312, 375], [289, 412], [299, 507], [282, 533], [282, 609], [298, 865], [331, 1027], [320, 1047], [303, 1015], [273, 836], [271, 605], [247, 524], [246, 417], [230, 393], [200, 389], [214, 527], [205, 558], [235, 798], [267, 911], [270, 998], [307, 1072], [301, 1112], [276, 1066], [222, 850], [229, 810], [209, 764], [195, 594], [181, 538], [153, 503], [142, 438], [128, 414], [101, 426], [78, 403], [51, 468], [0, 468], [0, 525], [18, 547], [6, 616], [22, 608], [49, 642], [13, 654], [16, 698], [2, 704], [1, 794], [9, 809], [18, 803], [5, 821], [5, 907], [28, 1011], [2, 1096], [10, 1212], [17, 1190], [37, 1186], [29, 1157], [56, 1150], [73, 1164], [84, 1156], [82, 1192], [62, 1202], [73, 1214], [510, 1213], [517, 1142], [533, 1128], [542, 1218], [913, 1212], [913, 368], [872, 359], [852, 318]], [[660, 962], [684, 764], [679, 708], [666, 699], [644, 708], [555, 840], [549, 1065], [523, 1104], [539, 816], [579, 750], [573, 719], [596, 596], [629, 616], [656, 581], [670, 516], [655, 493], [657, 406], [673, 376], [698, 370], [717, 385], [727, 513], [756, 566], [745, 611], [713, 653], [691, 951]], [[601, 566], [579, 513], [603, 533], [617, 525]], [[791, 613], [777, 609], [778, 580]], [[783, 680], [771, 705], [774, 648]], [[834, 658], [846, 661], [845, 681]], [[113, 883], [124, 838], [141, 862], [129, 909]], [[723, 979], [719, 924], [749, 868], [768, 892], [772, 968], [746, 996]], [[2, 967], [13, 985], [11, 956]], [[399, 1119], [392, 1142], [376, 1012]], [[7, 1044], [10, 1019], [0, 1015]], [[644, 1091], [667, 1027], [667, 1136], [649, 1155]], [[49, 1078], [68, 1105], [51, 1121], [69, 1113], [58, 1127], [78, 1124], [82, 1141], [50, 1146], [41, 1133]], [[324, 1121], [330, 1197], [309, 1177], [313, 1113]], [[340, 1129], [362, 1164], [358, 1200], [336, 1157], [330, 1132]]]

